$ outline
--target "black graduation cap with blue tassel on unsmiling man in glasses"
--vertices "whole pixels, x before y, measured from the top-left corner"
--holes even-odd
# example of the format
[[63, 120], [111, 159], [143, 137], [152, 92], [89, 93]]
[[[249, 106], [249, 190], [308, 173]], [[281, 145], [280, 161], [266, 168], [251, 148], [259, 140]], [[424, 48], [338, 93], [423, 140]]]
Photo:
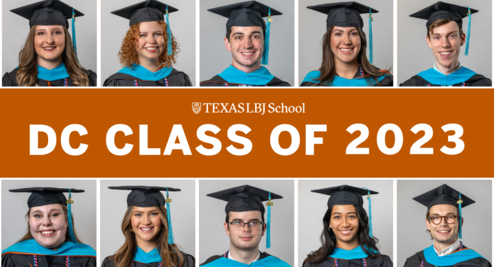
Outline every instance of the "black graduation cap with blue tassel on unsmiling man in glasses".
[[261, 211], [261, 216], [264, 216], [266, 209], [264, 209], [262, 202], [268, 201], [268, 203], [266, 203], [266, 206], [268, 206], [268, 216], [266, 222], [266, 248], [271, 247], [270, 226], [271, 206], [273, 205], [271, 200], [280, 199], [283, 198], [283, 196], [250, 185], [241, 185], [238, 187], [224, 189], [222, 191], [207, 194], [207, 196], [228, 202], [225, 207], [226, 214], [230, 211]]

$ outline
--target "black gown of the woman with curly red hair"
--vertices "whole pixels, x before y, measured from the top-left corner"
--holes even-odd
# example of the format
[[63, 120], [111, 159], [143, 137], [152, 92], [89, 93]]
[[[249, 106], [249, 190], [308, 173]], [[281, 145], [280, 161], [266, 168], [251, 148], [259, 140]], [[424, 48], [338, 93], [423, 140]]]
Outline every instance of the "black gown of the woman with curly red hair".
[[168, 85], [165, 84], [165, 79], [157, 81], [141, 80], [126, 73], [115, 73], [105, 80], [103, 86], [136, 86], [134, 80], [137, 80], [137, 86], [193, 86], [189, 76], [182, 71], [177, 71], [175, 68], [167, 76]]

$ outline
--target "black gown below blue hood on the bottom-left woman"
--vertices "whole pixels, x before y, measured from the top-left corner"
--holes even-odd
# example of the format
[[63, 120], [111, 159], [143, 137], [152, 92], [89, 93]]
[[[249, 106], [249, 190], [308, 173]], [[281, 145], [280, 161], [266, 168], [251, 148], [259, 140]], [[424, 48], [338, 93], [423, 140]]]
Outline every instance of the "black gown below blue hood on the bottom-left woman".
[[[65, 267], [65, 256], [36, 256], [38, 267]], [[5, 253], [1, 267], [34, 267], [33, 255]], [[96, 257], [70, 257], [71, 267], [95, 267]]]

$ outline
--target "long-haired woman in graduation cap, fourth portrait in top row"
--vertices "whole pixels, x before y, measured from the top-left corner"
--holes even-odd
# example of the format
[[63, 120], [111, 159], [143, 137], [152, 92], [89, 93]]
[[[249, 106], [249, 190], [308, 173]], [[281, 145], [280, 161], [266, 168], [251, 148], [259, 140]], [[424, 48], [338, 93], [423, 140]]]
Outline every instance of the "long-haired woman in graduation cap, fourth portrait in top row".
[[[301, 86], [392, 86], [392, 75], [373, 62], [372, 14], [378, 11], [357, 2], [326, 3], [308, 6], [327, 14], [322, 37], [320, 69], [307, 73]], [[367, 38], [360, 14], [369, 15], [369, 57]]]

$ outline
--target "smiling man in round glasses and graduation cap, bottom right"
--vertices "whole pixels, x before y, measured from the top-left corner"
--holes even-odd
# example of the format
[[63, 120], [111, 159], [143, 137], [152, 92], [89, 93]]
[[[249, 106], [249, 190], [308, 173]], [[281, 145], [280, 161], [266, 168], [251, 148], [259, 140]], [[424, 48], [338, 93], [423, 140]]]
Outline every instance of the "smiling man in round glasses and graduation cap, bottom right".
[[425, 225], [434, 242], [432, 246], [409, 257], [405, 267], [491, 267], [487, 259], [460, 241], [464, 222], [461, 216], [462, 207], [475, 201], [446, 184], [417, 196], [414, 200], [428, 208]]

